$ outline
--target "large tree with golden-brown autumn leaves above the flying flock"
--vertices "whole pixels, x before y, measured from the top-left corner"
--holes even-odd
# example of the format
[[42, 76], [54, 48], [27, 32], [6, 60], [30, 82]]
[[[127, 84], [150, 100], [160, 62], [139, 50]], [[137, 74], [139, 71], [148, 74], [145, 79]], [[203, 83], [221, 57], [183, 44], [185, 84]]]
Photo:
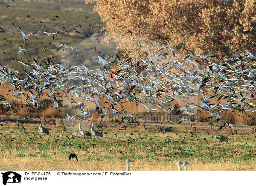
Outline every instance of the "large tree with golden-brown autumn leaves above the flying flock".
[[106, 34], [148, 38], [185, 55], [230, 56], [256, 55], [255, 5], [256, 0], [96, 0], [94, 11], [106, 22]]

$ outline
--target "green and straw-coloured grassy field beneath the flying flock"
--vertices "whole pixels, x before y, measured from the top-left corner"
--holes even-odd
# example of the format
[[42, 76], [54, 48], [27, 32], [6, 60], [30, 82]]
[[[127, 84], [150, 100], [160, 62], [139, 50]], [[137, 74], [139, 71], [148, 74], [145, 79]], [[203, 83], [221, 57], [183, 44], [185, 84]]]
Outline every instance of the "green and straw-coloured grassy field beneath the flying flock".
[[[124, 124], [104, 125], [102, 140], [75, 135], [78, 125], [66, 131], [60, 124], [44, 125], [52, 137], [40, 133], [39, 123], [22, 126], [26, 130], [20, 125], [20, 131], [17, 123], [0, 126], [2, 170], [125, 170], [127, 158], [135, 161], [130, 163], [131, 170], [177, 170], [177, 160], [188, 161], [189, 170], [256, 170], [255, 137], [229, 135], [228, 129], [222, 132], [229, 142], [221, 143], [215, 131], [195, 133], [185, 125], [172, 132], [152, 125], [145, 129], [126, 124], [126, 130]], [[82, 128], [90, 131], [90, 124]], [[69, 129], [75, 131], [74, 138]], [[69, 161], [70, 153], [76, 153], [79, 161]]]

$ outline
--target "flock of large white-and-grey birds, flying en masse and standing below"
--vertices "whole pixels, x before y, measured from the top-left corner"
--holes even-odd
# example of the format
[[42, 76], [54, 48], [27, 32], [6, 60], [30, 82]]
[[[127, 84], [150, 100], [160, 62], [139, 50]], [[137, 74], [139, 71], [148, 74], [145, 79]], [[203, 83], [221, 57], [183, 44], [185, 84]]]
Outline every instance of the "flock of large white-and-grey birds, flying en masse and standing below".
[[[25, 41], [35, 33], [47, 34], [50, 37], [58, 35], [38, 31], [26, 35], [20, 27], [19, 29]], [[22, 47], [19, 46], [19, 51], [16, 51], [21, 56], [26, 55], [27, 51]], [[56, 51], [61, 49], [62, 51], [68, 50], [70, 55], [77, 55], [73, 46], [68, 44], [60, 44]], [[143, 105], [150, 114], [164, 112], [171, 115], [179, 112], [182, 119], [177, 124], [190, 123], [190, 128], [192, 122], [197, 119], [195, 112], [201, 110], [207, 111], [209, 118], [215, 118], [216, 122], [222, 118], [221, 113], [227, 110], [239, 110], [248, 116], [250, 112], [256, 113], [256, 105], [253, 103], [256, 100], [254, 97], [256, 94], [256, 57], [253, 54], [243, 52], [236, 58], [227, 59], [211, 55], [189, 54], [183, 59], [189, 65], [197, 67], [200, 61], [208, 64], [205, 69], [190, 72], [185, 69], [182, 62], [166, 59], [168, 50], [171, 50], [175, 57], [175, 52], [170, 46], [161, 47], [151, 57], [145, 52], [147, 59], [129, 56], [121, 59], [120, 55], [111, 59], [105, 58], [104, 53], [99, 52], [99, 59], [95, 61], [99, 64], [98, 69], [90, 69], [80, 61], [77, 61], [77, 65], [64, 67], [60, 63], [55, 63], [50, 57], [39, 62], [40, 59], [33, 58], [33, 63], [15, 58], [22, 65], [23, 70], [17, 72], [7, 66], [1, 66], [0, 84], [6, 83], [13, 86], [15, 98], [24, 98], [23, 102], [38, 110], [41, 109], [38, 99], [42, 95], [52, 98], [54, 102], [52, 107], [61, 110], [66, 105], [61, 105], [61, 102], [57, 101], [57, 93], [71, 94], [72, 103], [76, 104], [80, 113], [74, 116], [66, 113], [69, 122], [74, 122], [76, 119], [89, 119], [91, 113], [85, 109], [86, 102], [94, 103], [96, 112], [104, 118], [109, 110], [99, 104], [103, 96], [106, 97], [113, 110], [110, 114], [117, 116], [123, 114], [123, 118], [135, 121], [132, 113], [116, 108], [116, 105], [122, 106], [123, 102], [134, 102]], [[213, 62], [212, 58], [217, 58], [217, 60]], [[175, 69], [177, 73], [171, 73], [170, 69]], [[24, 91], [29, 91], [30, 96]], [[207, 97], [205, 94], [209, 94], [210, 91], [213, 95]], [[186, 101], [198, 96], [202, 96], [200, 104]], [[75, 98], [82, 98], [83, 102], [76, 102]], [[186, 107], [175, 105], [175, 98], [182, 98], [186, 102]], [[218, 103], [211, 103], [213, 99]], [[150, 109], [151, 105], [143, 100], [156, 102], [157, 108]], [[0, 105], [3, 105], [7, 112], [15, 110], [13, 105], [6, 100], [0, 101]], [[40, 131], [49, 135], [49, 131], [42, 127], [42, 124], [43, 120], [39, 126]], [[228, 123], [225, 123], [225, 126], [229, 126], [231, 130], [233, 128], [233, 125]], [[81, 124], [79, 124], [79, 131], [83, 136], [103, 137], [102, 133], [93, 130], [93, 124], [92, 134], [82, 129]], [[228, 141], [227, 137], [217, 134], [215, 138], [221, 142]], [[127, 169], [129, 169], [130, 162], [130, 160], [126, 161]], [[187, 170], [186, 166], [189, 163], [185, 161], [182, 164], [179, 161], [177, 163], [179, 170], [181, 170], [180, 165]]]

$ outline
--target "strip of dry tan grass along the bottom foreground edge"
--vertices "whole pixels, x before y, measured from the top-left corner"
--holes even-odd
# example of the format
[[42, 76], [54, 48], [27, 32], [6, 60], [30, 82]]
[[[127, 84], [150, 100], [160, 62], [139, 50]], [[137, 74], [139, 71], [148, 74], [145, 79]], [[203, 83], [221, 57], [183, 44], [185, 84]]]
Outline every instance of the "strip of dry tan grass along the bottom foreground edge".
[[[147, 162], [147, 163], [145, 163]], [[145, 158], [130, 163], [131, 171], [177, 171], [176, 161], [156, 162]], [[123, 160], [92, 160], [92, 161], [49, 161], [43, 160], [40, 157], [20, 157], [20, 158], [4, 158], [2, 159], [1, 170], [90, 170], [90, 171], [123, 171], [125, 170], [125, 162]], [[1, 168], [1, 167], [0, 167]], [[251, 164], [230, 163], [228, 161], [219, 161], [215, 163], [202, 163], [195, 160], [194, 163], [188, 166], [190, 171], [256, 171], [256, 162]]]

